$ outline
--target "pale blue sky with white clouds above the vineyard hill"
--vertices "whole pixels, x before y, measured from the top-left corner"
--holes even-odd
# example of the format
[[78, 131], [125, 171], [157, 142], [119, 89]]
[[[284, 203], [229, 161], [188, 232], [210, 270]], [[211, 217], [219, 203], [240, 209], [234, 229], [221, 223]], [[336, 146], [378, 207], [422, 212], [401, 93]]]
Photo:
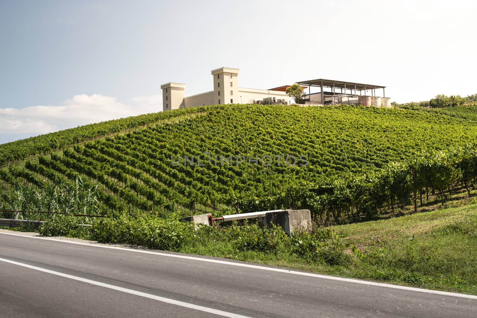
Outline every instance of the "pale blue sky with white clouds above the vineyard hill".
[[[160, 85], [331, 79], [398, 103], [477, 93], [473, 0], [0, 2], [0, 143], [162, 110]], [[378, 96], [379, 92], [377, 91]]]

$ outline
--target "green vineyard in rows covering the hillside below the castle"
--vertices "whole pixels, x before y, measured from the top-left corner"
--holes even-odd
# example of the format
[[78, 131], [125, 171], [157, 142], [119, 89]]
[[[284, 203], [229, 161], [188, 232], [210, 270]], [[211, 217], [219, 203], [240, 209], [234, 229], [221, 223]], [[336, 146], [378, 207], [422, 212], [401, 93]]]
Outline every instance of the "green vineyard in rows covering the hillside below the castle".
[[[34, 209], [26, 194], [81, 180], [111, 216], [303, 208], [328, 223], [369, 219], [416, 193], [444, 201], [453, 182], [470, 193], [475, 113], [215, 105], [112, 120], [1, 145], [0, 209]], [[184, 156], [201, 164], [177, 164]], [[245, 160], [218, 165], [221, 156]]]

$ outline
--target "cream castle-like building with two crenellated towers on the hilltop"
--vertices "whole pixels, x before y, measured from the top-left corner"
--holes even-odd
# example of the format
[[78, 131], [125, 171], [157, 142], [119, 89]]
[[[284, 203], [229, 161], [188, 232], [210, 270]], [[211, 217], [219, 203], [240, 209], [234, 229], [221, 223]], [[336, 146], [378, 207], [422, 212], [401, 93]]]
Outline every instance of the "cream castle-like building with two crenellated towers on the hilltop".
[[290, 104], [286, 86], [274, 89], [239, 87], [239, 69], [222, 67], [212, 70], [214, 90], [185, 97], [186, 84], [169, 82], [161, 85], [163, 110], [216, 104]]

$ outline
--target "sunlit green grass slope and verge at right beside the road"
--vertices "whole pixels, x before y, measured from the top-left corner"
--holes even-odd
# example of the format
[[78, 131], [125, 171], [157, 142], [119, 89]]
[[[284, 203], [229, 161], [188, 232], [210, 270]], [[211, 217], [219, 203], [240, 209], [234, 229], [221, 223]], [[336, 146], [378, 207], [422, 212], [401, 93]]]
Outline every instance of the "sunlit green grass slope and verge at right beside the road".
[[287, 252], [238, 251], [227, 241], [214, 239], [180, 251], [477, 295], [476, 224], [474, 203], [336, 226], [334, 232], [363, 253], [359, 257], [347, 249], [349, 258], [337, 265], [309, 261]]

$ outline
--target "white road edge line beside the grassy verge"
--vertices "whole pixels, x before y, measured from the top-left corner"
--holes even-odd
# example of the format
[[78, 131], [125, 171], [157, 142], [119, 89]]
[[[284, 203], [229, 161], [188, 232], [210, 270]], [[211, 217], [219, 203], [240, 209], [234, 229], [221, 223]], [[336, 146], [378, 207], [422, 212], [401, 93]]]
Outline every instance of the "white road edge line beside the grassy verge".
[[416, 292], [420, 292], [420, 293], [443, 295], [443, 296], [449, 296], [449, 297], [467, 298], [467, 299], [476, 299], [477, 300], [477, 296], [475, 296], [475, 295], [467, 295], [467, 294], [452, 293], [452, 292], [449, 292], [449, 291], [400, 286], [400, 285], [393, 285], [393, 284], [387, 284], [387, 283], [378, 283], [378, 282], [374, 282], [374, 281], [354, 279], [354, 278], [344, 278], [344, 277], [337, 277], [337, 276], [328, 276], [328, 275], [323, 275], [323, 274], [298, 272], [298, 271], [282, 269], [282, 268], [273, 268], [273, 267], [265, 267], [265, 266], [259, 266], [259, 265], [243, 264], [243, 263], [236, 263], [236, 262], [218, 260], [218, 259], [208, 259], [208, 258], [199, 258], [199, 257], [193, 257], [193, 256], [186, 256], [186, 255], [168, 254], [168, 253], [153, 252], [153, 251], [140, 250], [140, 249], [134, 249], [134, 248], [120, 248], [120, 247], [116, 247], [116, 246], [107, 246], [107, 245], [101, 245], [101, 244], [73, 242], [73, 241], [67, 241], [67, 240], [63, 240], [63, 239], [42, 238], [42, 237], [37, 237], [37, 236], [27, 236], [27, 235], [20, 235], [20, 234], [14, 234], [14, 233], [6, 233], [6, 232], [1, 232], [1, 231], [0, 231], [0, 234], [21, 236], [21, 237], [30, 238], [30, 239], [44, 239], [44, 240], [70, 243], [70, 244], [86, 245], [86, 246], [97, 247], [97, 248], [120, 249], [120, 250], [125, 250], [125, 251], [130, 251], [130, 252], [136, 252], [136, 253], [154, 254], [154, 255], [158, 255], [158, 256], [166, 256], [166, 257], [172, 257], [172, 258], [185, 258], [185, 259], [192, 259], [192, 260], [197, 260], [197, 261], [202, 261], [202, 262], [217, 263], [217, 264], [224, 264], [224, 265], [238, 266], [238, 267], [246, 267], [246, 268], [262, 269], [262, 270], [268, 270], [268, 271], [272, 271], [272, 272], [287, 273], [287, 274], [308, 276], [308, 277], [321, 278], [321, 279], [338, 280], [338, 281], [344, 281], [344, 282], [348, 282], [348, 283], [355, 283], [355, 284], [361, 284], [361, 285], [378, 286], [378, 287], [386, 287], [386, 288], [394, 288], [394, 289], [403, 289], [403, 290], [416, 291]]

